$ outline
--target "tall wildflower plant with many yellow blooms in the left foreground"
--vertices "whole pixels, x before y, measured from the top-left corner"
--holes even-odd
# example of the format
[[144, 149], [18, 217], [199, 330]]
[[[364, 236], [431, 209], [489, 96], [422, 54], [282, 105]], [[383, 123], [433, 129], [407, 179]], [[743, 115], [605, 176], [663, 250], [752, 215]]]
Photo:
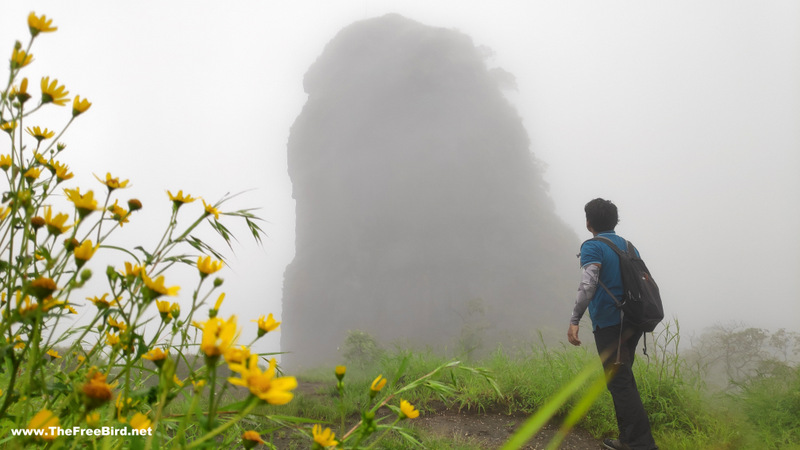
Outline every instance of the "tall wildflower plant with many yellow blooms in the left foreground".
[[[398, 382], [401, 373], [391, 383], [379, 375], [365, 386], [369, 404], [350, 430], [344, 429], [342, 410], [339, 437], [327, 424], [263, 412], [270, 411], [267, 405], [290, 403], [298, 384], [281, 373], [276, 359], [269, 358], [274, 354], [251, 350], [255, 340], [278, 330], [281, 322], [272, 314], [245, 320], [256, 337], [240, 342], [241, 322], [222, 311], [224, 282], [218, 274], [225, 268], [223, 257], [197, 237], [208, 227], [230, 245], [227, 222], [242, 220], [260, 242], [259, 219], [249, 209], [227, 211], [231, 196], [207, 202], [183, 190], [165, 191], [171, 215], [155, 246], [111, 245], [109, 237], [137, 220], [144, 206], [127, 195], [134, 183], [118, 174], [94, 174], [98, 184], [91, 187], [72, 185], [74, 174], [64, 162], [72, 150], [61, 139], [76, 119], [91, 113], [92, 103], [72, 97], [61, 128], [36, 122], [37, 111], [67, 106], [71, 93], [51, 75], [41, 78], [38, 96], [31, 89], [33, 44], [58, 28], [34, 12], [28, 28], [27, 45], [17, 42], [10, 52], [8, 82], [0, 90], [0, 177], [5, 181], [0, 198], [0, 445], [275, 448], [261, 436], [283, 428], [306, 436], [309, 448], [371, 448], [390, 431], [419, 445], [398, 423], [420, 412], [399, 396], [419, 387], [441, 395], [454, 392], [434, 377], [463, 368], [458, 362], [405, 385]], [[117, 264], [98, 267], [100, 261], [115, 259]], [[174, 269], [180, 265], [194, 269], [193, 285], [176, 284]], [[101, 289], [89, 288], [95, 273], [104, 276]], [[191, 298], [188, 307], [176, 301], [179, 294]], [[181, 367], [189, 370], [183, 379]], [[336, 367], [342, 400], [345, 373], [344, 366]], [[390, 414], [377, 414], [381, 408]], [[390, 417], [394, 422], [387, 425]], [[263, 428], [251, 429], [254, 423]], [[101, 435], [101, 428], [116, 431]]]

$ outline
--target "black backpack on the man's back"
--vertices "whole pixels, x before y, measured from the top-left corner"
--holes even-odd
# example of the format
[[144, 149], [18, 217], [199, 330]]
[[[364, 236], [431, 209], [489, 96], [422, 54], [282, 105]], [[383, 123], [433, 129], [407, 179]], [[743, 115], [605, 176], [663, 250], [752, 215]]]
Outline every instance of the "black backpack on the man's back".
[[636, 247], [630, 241], [626, 241], [627, 249], [623, 252], [608, 238], [598, 236], [589, 240], [605, 243], [619, 256], [622, 298], [617, 298], [602, 282], [600, 285], [621, 309], [623, 320], [646, 333], [653, 331], [664, 319], [664, 307], [661, 304], [658, 285], [650, 275], [647, 265], [637, 255]]

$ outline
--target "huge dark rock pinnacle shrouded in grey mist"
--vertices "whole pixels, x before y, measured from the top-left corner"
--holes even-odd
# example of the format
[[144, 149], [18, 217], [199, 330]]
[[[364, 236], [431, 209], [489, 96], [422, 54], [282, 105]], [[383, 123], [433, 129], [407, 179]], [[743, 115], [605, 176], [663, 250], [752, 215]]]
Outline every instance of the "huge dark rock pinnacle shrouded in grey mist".
[[566, 330], [577, 238], [485, 53], [387, 15], [343, 29], [306, 73], [285, 363], [341, 360], [349, 330], [454, 351]]

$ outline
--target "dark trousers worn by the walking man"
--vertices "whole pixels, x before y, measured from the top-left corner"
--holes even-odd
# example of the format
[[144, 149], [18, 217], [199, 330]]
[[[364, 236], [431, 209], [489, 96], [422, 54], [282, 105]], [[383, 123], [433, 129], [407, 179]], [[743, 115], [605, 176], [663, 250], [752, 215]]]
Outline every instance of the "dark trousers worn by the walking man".
[[[620, 346], [619, 325], [598, 328], [594, 331], [594, 340], [597, 352], [603, 360], [603, 368], [606, 373], [613, 373], [608, 382], [608, 390], [614, 400], [619, 440], [631, 449], [652, 450], [658, 447], [650, 432], [650, 421], [647, 419], [642, 397], [633, 378], [633, 360], [641, 337], [641, 331], [623, 327]], [[617, 364], [618, 348], [619, 364]]]

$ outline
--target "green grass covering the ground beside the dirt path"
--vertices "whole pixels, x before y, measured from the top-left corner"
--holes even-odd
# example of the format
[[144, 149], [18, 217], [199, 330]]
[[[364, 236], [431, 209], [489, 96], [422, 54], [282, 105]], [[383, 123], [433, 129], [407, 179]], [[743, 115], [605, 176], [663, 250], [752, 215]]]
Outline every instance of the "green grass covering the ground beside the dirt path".
[[[667, 330], [656, 336], [655, 342], [650, 343], [649, 360], [639, 357], [634, 366], [660, 448], [800, 449], [800, 368], [775, 363], [736, 393], [710, 393], [704, 389], [699, 375], [678, 356], [675, 334]], [[369, 364], [349, 364], [344, 379], [344, 401], [336, 389], [333, 367], [295, 374], [301, 387], [292, 402], [284, 406], [259, 407], [258, 414], [242, 426], [264, 433], [264, 438], [272, 439], [278, 448], [309, 448], [309, 425], [295, 425], [295, 430], [277, 430], [264, 416], [304, 417], [319, 421], [342, 436], [358, 422], [360, 411], [370, 403], [369, 386], [378, 374], [389, 380], [385, 392], [390, 392], [444, 363], [446, 360], [432, 351], [398, 349], [382, 354]], [[447, 407], [472, 414], [530, 415], [584, 368], [593, 365], [600, 366], [598, 357], [586, 348], [548, 348], [538, 342], [522, 350], [497, 349], [472, 364], [482, 369], [446, 370], [430, 380], [433, 384], [451, 386], [452, 395], [442, 397], [435, 390], [419, 387], [404, 392], [401, 397], [423, 414]], [[492, 374], [496, 386], [487, 381], [486, 373]], [[588, 389], [587, 384], [558, 408], [554, 420], [562, 420], [579, 404]], [[236, 395], [244, 394], [236, 392]], [[400, 399], [395, 400], [397, 403]], [[176, 402], [173, 411], [184, 406]], [[384, 407], [378, 416], [381, 414], [393, 413]], [[412, 423], [404, 422], [405, 425]], [[613, 405], [607, 391], [603, 391], [577, 426], [597, 439], [616, 435]], [[469, 437], [411, 428], [410, 434], [425, 448], [480, 448], [477, 441]], [[243, 430], [232, 430], [231, 436], [240, 435]], [[386, 449], [408, 447], [405, 439], [392, 433], [381, 444], [381, 448]]]

